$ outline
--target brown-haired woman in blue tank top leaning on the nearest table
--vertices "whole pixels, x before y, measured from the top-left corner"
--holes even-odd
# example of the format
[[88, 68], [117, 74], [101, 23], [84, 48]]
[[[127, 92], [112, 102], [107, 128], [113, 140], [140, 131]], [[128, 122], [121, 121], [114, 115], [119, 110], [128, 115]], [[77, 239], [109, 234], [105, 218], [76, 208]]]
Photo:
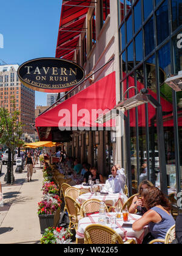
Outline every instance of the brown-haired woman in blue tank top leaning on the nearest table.
[[146, 188], [143, 191], [144, 207], [147, 212], [133, 223], [133, 230], [140, 231], [149, 225], [150, 240], [165, 239], [167, 230], [175, 225], [175, 220], [170, 214], [170, 202], [156, 187]]

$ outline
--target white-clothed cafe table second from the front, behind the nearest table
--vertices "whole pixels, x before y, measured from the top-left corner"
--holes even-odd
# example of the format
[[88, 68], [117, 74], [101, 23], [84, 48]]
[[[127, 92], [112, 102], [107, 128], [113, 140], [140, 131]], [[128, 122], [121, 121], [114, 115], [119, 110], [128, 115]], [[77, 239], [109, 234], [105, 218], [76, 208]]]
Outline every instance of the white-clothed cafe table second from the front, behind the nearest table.
[[85, 201], [89, 199], [98, 199], [99, 201], [105, 202], [105, 204], [110, 207], [110, 206], [116, 206], [118, 202], [121, 202], [121, 205], [123, 206], [128, 198], [125, 194], [121, 194], [121, 193], [117, 193], [117, 194], [109, 193], [107, 195], [106, 194], [102, 195], [100, 193], [97, 193], [96, 196], [95, 196], [95, 193], [87, 193], [87, 194], [81, 194], [81, 196], [79, 196], [76, 199], [76, 201], [80, 205], [82, 205]]

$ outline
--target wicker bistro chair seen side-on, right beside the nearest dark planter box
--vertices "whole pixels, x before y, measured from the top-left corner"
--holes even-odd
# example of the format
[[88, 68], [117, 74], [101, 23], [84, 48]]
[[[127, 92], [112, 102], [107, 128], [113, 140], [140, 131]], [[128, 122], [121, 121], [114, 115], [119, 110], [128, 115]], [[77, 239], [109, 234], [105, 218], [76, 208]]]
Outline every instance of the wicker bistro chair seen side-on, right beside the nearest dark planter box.
[[79, 219], [81, 219], [80, 216], [80, 205], [78, 204], [78, 202], [75, 201], [75, 199], [73, 199], [70, 196], [65, 196], [64, 197], [65, 203], [66, 203], [66, 208], [67, 208], [67, 212], [69, 215], [69, 220], [70, 220], [70, 224], [69, 224], [69, 229], [78, 229], [78, 221]]

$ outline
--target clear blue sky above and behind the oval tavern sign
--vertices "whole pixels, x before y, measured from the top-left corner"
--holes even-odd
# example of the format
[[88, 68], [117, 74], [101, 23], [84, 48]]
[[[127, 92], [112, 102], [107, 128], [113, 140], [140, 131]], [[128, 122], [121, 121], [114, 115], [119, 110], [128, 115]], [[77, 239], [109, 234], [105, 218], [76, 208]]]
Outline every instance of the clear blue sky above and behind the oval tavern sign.
[[[55, 57], [61, 4], [62, 0], [1, 1], [0, 59], [21, 65], [38, 57]], [[35, 95], [36, 105], [47, 105], [46, 93]]]

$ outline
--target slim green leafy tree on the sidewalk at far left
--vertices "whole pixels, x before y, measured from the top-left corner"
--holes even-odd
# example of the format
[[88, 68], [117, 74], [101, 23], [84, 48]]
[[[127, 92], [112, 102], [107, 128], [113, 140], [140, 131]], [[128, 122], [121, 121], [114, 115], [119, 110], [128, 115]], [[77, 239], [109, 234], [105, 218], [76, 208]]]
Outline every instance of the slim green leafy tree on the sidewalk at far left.
[[7, 171], [10, 179], [8, 179], [7, 183], [13, 184], [13, 160], [15, 150], [21, 147], [24, 141], [21, 140], [23, 125], [19, 121], [20, 112], [16, 109], [15, 98], [12, 98], [11, 105], [11, 112], [8, 112], [5, 107], [1, 106], [0, 108], [0, 143], [5, 144], [9, 151], [12, 152], [12, 157], [8, 158], [10, 168]]

